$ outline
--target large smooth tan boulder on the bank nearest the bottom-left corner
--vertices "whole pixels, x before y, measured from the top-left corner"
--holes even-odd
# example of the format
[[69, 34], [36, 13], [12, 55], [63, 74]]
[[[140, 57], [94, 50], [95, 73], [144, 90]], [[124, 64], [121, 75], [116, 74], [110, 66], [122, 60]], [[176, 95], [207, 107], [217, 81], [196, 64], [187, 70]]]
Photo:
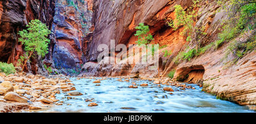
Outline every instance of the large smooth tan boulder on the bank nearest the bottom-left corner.
[[5, 97], [3, 97], [3, 99], [5, 99], [7, 101], [16, 101], [16, 102], [27, 103], [27, 99], [26, 98], [20, 97], [15, 92], [8, 92], [8, 93], [6, 93]]

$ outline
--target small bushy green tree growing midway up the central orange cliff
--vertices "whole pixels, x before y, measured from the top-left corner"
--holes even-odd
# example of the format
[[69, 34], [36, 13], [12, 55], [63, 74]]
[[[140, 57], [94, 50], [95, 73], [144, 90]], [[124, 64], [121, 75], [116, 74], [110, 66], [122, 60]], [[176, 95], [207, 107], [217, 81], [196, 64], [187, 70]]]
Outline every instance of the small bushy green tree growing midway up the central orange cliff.
[[138, 36], [138, 41], [136, 41], [138, 45], [147, 45], [151, 42], [151, 40], [154, 40], [151, 33], [149, 33], [150, 29], [148, 25], [144, 25], [144, 23], [139, 23], [139, 26], [135, 29], [137, 29], [135, 36]]

